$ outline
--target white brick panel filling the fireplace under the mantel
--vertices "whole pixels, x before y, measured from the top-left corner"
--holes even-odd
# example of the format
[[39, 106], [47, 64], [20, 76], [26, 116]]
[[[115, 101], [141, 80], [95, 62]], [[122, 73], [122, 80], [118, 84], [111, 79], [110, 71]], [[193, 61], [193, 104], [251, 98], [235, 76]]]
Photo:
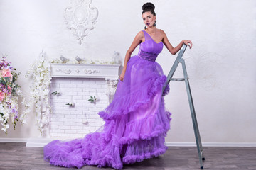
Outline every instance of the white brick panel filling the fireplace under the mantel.
[[[51, 82], [50, 92], [61, 92], [60, 96], [50, 96], [52, 137], [84, 137], [104, 125], [105, 122], [97, 113], [108, 104], [105, 79], [53, 78]], [[99, 101], [90, 103], [90, 96], [96, 96]], [[70, 102], [75, 103], [75, 107], [65, 105]]]

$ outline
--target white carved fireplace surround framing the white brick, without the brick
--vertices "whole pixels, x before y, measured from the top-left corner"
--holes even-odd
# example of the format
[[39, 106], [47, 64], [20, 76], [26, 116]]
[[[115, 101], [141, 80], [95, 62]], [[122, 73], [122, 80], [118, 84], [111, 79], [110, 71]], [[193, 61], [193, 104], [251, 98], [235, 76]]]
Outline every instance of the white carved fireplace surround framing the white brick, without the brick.
[[[50, 64], [50, 77], [53, 78], [85, 78], [105, 79], [105, 94], [112, 101], [114, 91], [119, 78], [120, 64]], [[26, 143], [27, 147], [43, 147], [54, 140], [50, 136], [50, 124], [44, 125], [44, 135], [38, 138], [31, 138]]]

